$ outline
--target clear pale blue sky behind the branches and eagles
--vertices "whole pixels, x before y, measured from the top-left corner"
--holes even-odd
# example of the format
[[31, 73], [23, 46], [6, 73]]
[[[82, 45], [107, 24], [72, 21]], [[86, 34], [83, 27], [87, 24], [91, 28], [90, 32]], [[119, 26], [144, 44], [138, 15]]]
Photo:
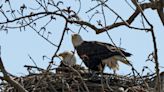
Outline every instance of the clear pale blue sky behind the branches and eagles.
[[[65, 0], [63, 0], [65, 1]], [[72, 6], [72, 9], [75, 11], [78, 10], [78, 2], [72, 2], [72, 0], [66, 0], [62, 7]], [[93, 7], [96, 3], [89, 2], [90, 0], [81, 0], [81, 12], [79, 14], [80, 18], [83, 20], [88, 21], [88, 17], [91, 17], [95, 11], [90, 13], [85, 13], [89, 8]], [[129, 0], [128, 0], [129, 1]], [[19, 9], [18, 6], [22, 5], [22, 3], [27, 4], [27, 7], [37, 8], [36, 3], [24, 1], [24, 0], [11, 0], [12, 7], [14, 9]], [[119, 3], [118, 3], [119, 2]], [[3, 1], [0, 1], [2, 4]], [[133, 12], [133, 10], [125, 3], [124, 0], [110, 0], [107, 4], [114, 9], [118, 14], [122, 16], [123, 19], [127, 19]], [[8, 6], [4, 5], [4, 9], [8, 9]], [[100, 8], [97, 8], [100, 9]], [[52, 9], [53, 10], [53, 9]], [[27, 11], [28, 12], [28, 11]], [[36, 11], [35, 11], [36, 12]], [[114, 22], [116, 16], [106, 10], [107, 24], [111, 24]], [[159, 55], [159, 63], [160, 66], [164, 66], [164, 27], [156, 13], [151, 9], [144, 11], [146, 17], [149, 19], [150, 23], [154, 26], [154, 31], [157, 39], [157, 46], [158, 46], [158, 55]], [[0, 14], [0, 18], [2, 14]], [[44, 18], [38, 21], [37, 25], [44, 25], [48, 18]], [[96, 23], [98, 19], [102, 19], [102, 16], [97, 15], [93, 18], [91, 23]], [[3, 20], [3, 18], [1, 19]], [[133, 26], [142, 27], [141, 24], [141, 17], [138, 16], [135, 19], [135, 22], [132, 23]], [[14, 26], [14, 25], [10, 25]], [[61, 18], [57, 19], [56, 21], [50, 23], [47, 26], [47, 30], [52, 32], [50, 36], [50, 40], [55, 44], [58, 44], [60, 40], [60, 36], [62, 33], [63, 28], [63, 20]], [[69, 27], [74, 31], [77, 32], [79, 29], [76, 25], [69, 25]], [[146, 62], [148, 55], [153, 51], [153, 43], [152, 37], [150, 33], [140, 30], [129, 29], [125, 26], [118, 27], [108, 31], [110, 36], [112, 37], [113, 41], [116, 43], [117, 46], [120, 44], [121, 39], [121, 47], [125, 48], [127, 52], [133, 54], [133, 56], [129, 57], [128, 59], [132, 62], [134, 67], [141, 72], [143, 66], [148, 66], [151, 70], [154, 70], [154, 64], [152, 62]], [[73, 46], [71, 43], [71, 32], [65, 34], [64, 41], [59, 52], [63, 52], [65, 50], [73, 50]], [[96, 40], [111, 43], [111, 40], [108, 38], [106, 33], [102, 33], [96, 35], [95, 32], [88, 28], [88, 32], [82, 30], [80, 35], [85, 40]], [[31, 28], [27, 28], [26, 31], [20, 32], [19, 29], [10, 29], [8, 34], [4, 31], [0, 31], [0, 45], [1, 45], [1, 56], [4, 62], [6, 69], [15, 75], [24, 75], [27, 74], [26, 69], [23, 67], [24, 65], [34, 65], [33, 62], [29, 59], [28, 55], [30, 55], [36, 62], [39, 67], [46, 68], [48, 65], [49, 60], [44, 59], [43, 56], [46, 55], [49, 58], [54, 54], [56, 47], [52, 46], [48, 42], [46, 42], [43, 38], [37, 35], [35, 31]], [[78, 56], [77, 56], [78, 58]], [[81, 63], [81, 60], [78, 58], [78, 64]], [[59, 64], [60, 60], [55, 59], [56, 64]], [[164, 69], [160, 68], [161, 71]], [[106, 68], [105, 72], [112, 72], [110, 69]], [[117, 72], [118, 74], [128, 74], [131, 72], [131, 68], [129, 66], [123, 65], [120, 63], [120, 70]], [[149, 71], [147, 71], [149, 72]], [[146, 72], [145, 72], [146, 73]]]

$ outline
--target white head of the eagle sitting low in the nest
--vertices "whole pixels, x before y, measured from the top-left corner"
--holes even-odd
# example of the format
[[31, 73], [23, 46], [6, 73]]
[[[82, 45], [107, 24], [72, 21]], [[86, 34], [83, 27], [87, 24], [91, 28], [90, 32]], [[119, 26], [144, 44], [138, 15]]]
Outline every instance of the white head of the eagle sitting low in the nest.
[[67, 64], [69, 66], [73, 66], [76, 64], [76, 57], [71, 51], [65, 51], [63, 53], [60, 53], [58, 56], [62, 57], [62, 61], [64, 62], [64, 64]]

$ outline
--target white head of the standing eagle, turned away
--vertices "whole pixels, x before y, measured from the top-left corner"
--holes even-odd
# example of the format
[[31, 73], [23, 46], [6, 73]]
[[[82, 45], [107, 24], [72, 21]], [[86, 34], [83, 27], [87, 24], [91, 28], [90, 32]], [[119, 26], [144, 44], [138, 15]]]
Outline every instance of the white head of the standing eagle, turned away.
[[83, 43], [83, 38], [79, 34], [72, 35], [72, 44], [74, 47], [79, 46]]

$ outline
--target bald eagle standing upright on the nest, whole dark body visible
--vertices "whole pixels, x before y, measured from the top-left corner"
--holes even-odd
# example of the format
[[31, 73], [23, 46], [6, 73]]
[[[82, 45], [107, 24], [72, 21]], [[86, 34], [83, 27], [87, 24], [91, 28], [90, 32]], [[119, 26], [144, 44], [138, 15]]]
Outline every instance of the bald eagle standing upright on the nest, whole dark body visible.
[[[79, 57], [90, 70], [103, 71], [105, 65], [110, 69], [118, 70], [119, 65], [117, 61], [130, 65], [124, 56], [129, 57], [131, 54], [109, 43], [84, 41], [79, 34], [73, 34], [72, 44]], [[120, 49], [124, 56], [118, 49]]]

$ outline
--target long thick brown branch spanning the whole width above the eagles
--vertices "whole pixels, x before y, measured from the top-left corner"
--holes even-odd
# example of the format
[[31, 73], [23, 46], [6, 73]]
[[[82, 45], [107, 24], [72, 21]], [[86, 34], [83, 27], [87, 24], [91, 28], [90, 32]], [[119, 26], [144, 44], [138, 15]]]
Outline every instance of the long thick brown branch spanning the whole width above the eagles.
[[[161, 6], [160, 7], [160, 11], [158, 9], [159, 5]], [[164, 7], [164, 2], [161, 3], [161, 1], [156, 1], [156, 2], [150, 2], [150, 3], [144, 3], [144, 4], [140, 4], [139, 5], [142, 10], [144, 11], [145, 9], [148, 9], [148, 8], [151, 8], [151, 9], [158, 9], [159, 11], [159, 16], [161, 18], [161, 21], [163, 22], [164, 20], [164, 17], [163, 17], [163, 12], [161, 12], [161, 8]], [[86, 21], [82, 21], [82, 20], [71, 20], [71, 19], [68, 19], [66, 16], [64, 16], [62, 13], [58, 13], [60, 11], [55, 11], [55, 12], [39, 12], [39, 13], [35, 13], [35, 14], [30, 14], [30, 15], [26, 15], [26, 16], [22, 16], [22, 17], [19, 17], [19, 18], [16, 18], [16, 19], [13, 19], [13, 20], [7, 20], [5, 22], [0, 22], [0, 24], [7, 24], [7, 23], [11, 23], [11, 22], [15, 22], [15, 21], [18, 21], [18, 20], [21, 20], [21, 19], [24, 19], [24, 18], [28, 18], [28, 17], [33, 17], [33, 16], [38, 16], [38, 15], [57, 15], [57, 16], [60, 16], [62, 18], [64, 18], [65, 20], [67, 20], [67, 22], [69, 23], [75, 23], [75, 24], [79, 24], [79, 25], [85, 25], [87, 27], [90, 27], [91, 29], [93, 29], [96, 34], [99, 34], [99, 33], [102, 33], [102, 32], [105, 32], [107, 30], [110, 30], [110, 29], [113, 29], [113, 28], [116, 28], [116, 27], [119, 27], [119, 26], [127, 26], [129, 28], [133, 28], [133, 29], [138, 29], [138, 30], [148, 30], [150, 31], [150, 29], [142, 29], [142, 28], [135, 28], [135, 27], [131, 27], [129, 26], [134, 20], [135, 18], [141, 13], [138, 8], [136, 8], [136, 10], [134, 11], [134, 13], [125, 21], [122, 21], [122, 22], [117, 22], [117, 23], [113, 23], [111, 25], [108, 25], [106, 27], [103, 27], [103, 28], [97, 28], [95, 25], [89, 23], [89, 22], [86, 22]], [[128, 25], [127, 25], [128, 24]]]

